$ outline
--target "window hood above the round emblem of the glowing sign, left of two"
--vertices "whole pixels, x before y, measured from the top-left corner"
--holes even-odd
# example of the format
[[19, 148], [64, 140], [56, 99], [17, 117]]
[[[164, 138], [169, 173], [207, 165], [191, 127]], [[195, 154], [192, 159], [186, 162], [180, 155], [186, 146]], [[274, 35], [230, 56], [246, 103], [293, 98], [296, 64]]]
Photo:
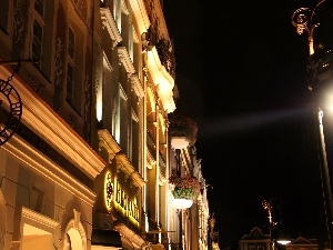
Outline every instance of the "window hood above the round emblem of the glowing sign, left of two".
[[108, 129], [99, 129], [99, 150], [104, 148], [109, 153], [109, 162], [113, 160], [115, 154], [121, 150], [115, 139], [111, 136]]

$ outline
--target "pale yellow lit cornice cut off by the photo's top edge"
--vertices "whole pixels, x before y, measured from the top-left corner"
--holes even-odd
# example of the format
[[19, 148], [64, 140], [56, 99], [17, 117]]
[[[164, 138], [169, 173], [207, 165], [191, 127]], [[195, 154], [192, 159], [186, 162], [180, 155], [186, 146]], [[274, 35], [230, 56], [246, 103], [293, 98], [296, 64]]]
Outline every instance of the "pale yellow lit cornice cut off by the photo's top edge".
[[143, 0], [129, 0], [135, 21], [138, 23], [139, 32], [142, 34], [150, 26], [150, 20], [145, 10]]

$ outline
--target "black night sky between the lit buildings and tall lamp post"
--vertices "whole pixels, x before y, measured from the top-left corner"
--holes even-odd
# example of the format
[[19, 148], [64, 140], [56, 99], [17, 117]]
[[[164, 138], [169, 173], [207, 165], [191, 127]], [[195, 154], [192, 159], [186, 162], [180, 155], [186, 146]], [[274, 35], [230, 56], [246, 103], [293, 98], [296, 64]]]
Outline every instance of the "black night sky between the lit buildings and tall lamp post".
[[305, 82], [307, 33], [299, 36], [291, 23], [297, 8], [315, 2], [164, 0], [180, 91], [175, 112], [199, 124], [195, 146], [213, 186], [209, 202], [221, 249], [254, 226], [268, 228], [261, 202], [271, 198], [283, 201], [291, 238], [326, 237]]

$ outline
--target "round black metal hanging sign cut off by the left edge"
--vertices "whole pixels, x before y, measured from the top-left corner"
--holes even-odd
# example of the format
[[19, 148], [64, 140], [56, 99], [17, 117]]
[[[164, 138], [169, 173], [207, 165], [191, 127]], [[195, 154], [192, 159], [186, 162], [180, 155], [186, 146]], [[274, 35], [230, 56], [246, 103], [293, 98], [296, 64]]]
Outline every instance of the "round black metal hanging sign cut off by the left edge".
[[21, 116], [22, 102], [19, 93], [9, 81], [0, 79], [0, 146], [12, 137]]

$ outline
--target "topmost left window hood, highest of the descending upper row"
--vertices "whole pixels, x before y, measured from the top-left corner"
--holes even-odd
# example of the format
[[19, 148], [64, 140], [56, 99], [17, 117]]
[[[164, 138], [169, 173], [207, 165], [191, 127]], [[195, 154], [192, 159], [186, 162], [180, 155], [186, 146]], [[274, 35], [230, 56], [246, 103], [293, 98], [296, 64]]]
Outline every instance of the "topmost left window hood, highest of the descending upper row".
[[117, 23], [114, 21], [114, 18], [110, 11], [109, 8], [107, 7], [102, 7], [100, 8], [100, 13], [101, 13], [101, 19], [102, 19], [102, 24], [103, 24], [103, 29], [107, 28], [110, 38], [113, 41], [112, 44], [112, 49], [122, 41], [122, 37], [118, 30]]

